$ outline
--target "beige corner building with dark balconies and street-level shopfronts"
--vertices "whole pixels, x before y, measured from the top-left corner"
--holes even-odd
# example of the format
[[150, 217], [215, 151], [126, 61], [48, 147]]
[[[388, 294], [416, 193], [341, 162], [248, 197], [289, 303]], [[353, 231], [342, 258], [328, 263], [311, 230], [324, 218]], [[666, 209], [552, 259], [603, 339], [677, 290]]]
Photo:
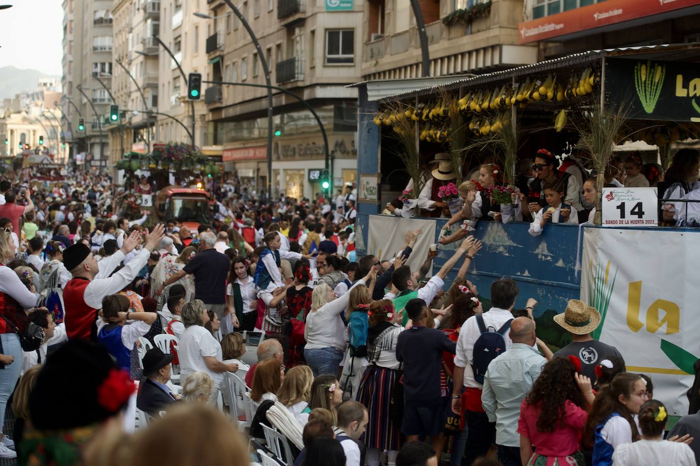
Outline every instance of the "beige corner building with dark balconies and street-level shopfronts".
[[[356, 96], [345, 86], [360, 79], [364, 0], [246, 0], [241, 15], [260, 42], [273, 86], [288, 89], [318, 113], [332, 152], [336, 188], [356, 180]], [[251, 37], [222, 0], [207, 3], [204, 75], [213, 81], [265, 85], [262, 60]], [[227, 176], [234, 172], [258, 193], [267, 189], [267, 89], [209, 85], [205, 148], [221, 150]], [[291, 96], [274, 91], [272, 193], [294, 198], [321, 192], [325, 166], [321, 130]]]

